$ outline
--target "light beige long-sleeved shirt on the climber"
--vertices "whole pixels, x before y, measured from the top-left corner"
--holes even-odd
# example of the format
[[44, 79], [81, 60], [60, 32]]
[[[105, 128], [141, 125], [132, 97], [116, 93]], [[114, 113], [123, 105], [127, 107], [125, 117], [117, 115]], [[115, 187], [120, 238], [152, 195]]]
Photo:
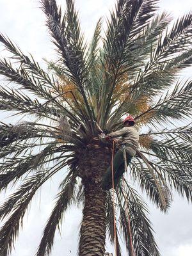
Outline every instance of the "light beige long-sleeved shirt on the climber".
[[111, 132], [108, 135], [111, 136], [111, 138], [122, 137], [119, 142], [125, 144], [127, 153], [131, 156], [136, 154], [140, 136], [134, 126], [124, 127], [116, 132]]

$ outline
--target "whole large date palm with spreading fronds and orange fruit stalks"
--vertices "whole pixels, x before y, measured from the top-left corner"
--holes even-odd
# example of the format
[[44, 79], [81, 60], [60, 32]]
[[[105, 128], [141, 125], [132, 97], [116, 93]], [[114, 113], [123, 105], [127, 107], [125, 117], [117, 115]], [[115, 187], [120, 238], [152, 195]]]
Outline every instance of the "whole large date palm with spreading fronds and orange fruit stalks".
[[[156, 0], [118, 0], [104, 36], [99, 20], [88, 44], [73, 0], [66, 1], [65, 13], [56, 0], [40, 2], [58, 52], [56, 61], [47, 61], [48, 71], [0, 35], [12, 54], [0, 61], [0, 74], [12, 82], [1, 86], [0, 109], [34, 116], [33, 122], [1, 123], [1, 191], [22, 183], [0, 208], [0, 254], [11, 252], [36, 191], [61, 172], [36, 256], [51, 254], [56, 229], [72, 203], [83, 204], [79, 255], [103, 256], [106, 232], [115, 240], [116, 255], [121, 255], [120, 236], [131, 256], [160, 255], [147, 205], [130, 179], [163, 212], [171, 190], [192, 199], [192, 127], [186, 123], [192, 83], [179, 79], [180, 70], [191, 65], [192, 15], [171, 26], [169, 15], [157, 15]], [[128, 113], [136, 118], [140, 148], [113, 198], [113, 189], [101, 186], [113, 145], [99, 138], [98, 127], [115, 131]], [[175, 120], [182, 126], [175, 127]]]

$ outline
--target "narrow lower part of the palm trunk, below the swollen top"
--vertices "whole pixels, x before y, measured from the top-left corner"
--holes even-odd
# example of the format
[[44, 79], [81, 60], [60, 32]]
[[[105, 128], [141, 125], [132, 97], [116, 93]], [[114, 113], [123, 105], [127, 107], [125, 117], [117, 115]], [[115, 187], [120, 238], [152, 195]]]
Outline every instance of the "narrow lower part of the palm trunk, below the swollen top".
[[92, 184], [84, 187], [84, 209], [79, 243], [80, 256], [104, 256], [106, 241], [106, 193], [93, 188]]

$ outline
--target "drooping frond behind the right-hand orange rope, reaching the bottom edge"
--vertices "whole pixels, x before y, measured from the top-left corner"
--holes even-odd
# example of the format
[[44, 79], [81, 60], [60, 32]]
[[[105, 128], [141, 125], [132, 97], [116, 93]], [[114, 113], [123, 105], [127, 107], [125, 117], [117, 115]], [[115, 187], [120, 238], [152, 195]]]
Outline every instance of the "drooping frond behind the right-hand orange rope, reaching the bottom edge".
[[[157, 250], [156, 242], [152, 235], [151, 223], [146, 214], [148, 214], [147, 205], [143, 199], [131, 188], [125, 181], [125, 191], [119, 187], [117, 191], [118, 206], [120, 208], [120, 228], [124, 234], [127, 252], [130, 253], [130, 237], [128, 230], [127, 214], [129, 214], [131, 224], [132, 243], [136, 255], [160, 255]], [[124, 197], [125, 195], [125, 197]], [[125, 202], [127, 201], [127, 203]], [[126, 212], [126, 204], [129, 212]]]

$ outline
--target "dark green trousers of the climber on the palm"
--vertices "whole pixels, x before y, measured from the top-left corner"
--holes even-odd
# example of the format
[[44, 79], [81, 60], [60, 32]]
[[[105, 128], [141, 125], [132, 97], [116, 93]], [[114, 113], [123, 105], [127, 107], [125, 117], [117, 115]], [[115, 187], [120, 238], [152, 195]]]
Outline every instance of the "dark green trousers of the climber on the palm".
[[[132, 156], [130, 156], [126, 152], [127, 157], [127, 166], [131, 162]], [[121, 179], [122, 175], [125, 172], [125, 161], [124, 161], [124, 151], [118, 150], [115, 154], [113, 159], [113, 172], [114, 172], [114, 185], [118, 184], [119, 180]], [[109, 190], [112, 188], [112, 170], [111, 166], [108, 167], [106, 173], [102, 179], [103, 188]]]

